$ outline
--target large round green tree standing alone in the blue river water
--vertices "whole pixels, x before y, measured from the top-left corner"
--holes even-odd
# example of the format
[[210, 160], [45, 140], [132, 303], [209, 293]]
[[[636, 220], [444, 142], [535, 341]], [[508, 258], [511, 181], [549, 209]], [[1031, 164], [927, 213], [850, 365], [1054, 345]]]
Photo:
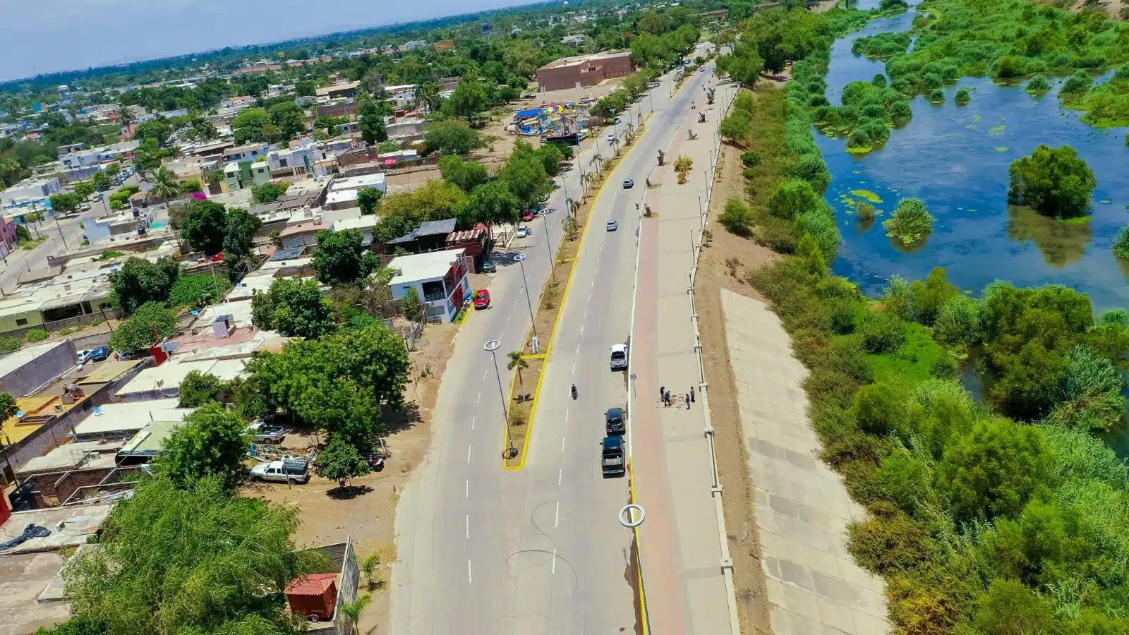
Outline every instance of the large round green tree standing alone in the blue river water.
[[1085, 216], [1097, 186], [1094, 172], [1070, 146], [1040, 143], [1030, 157], [1012, 162], [1007, 198], [1056, 218]]

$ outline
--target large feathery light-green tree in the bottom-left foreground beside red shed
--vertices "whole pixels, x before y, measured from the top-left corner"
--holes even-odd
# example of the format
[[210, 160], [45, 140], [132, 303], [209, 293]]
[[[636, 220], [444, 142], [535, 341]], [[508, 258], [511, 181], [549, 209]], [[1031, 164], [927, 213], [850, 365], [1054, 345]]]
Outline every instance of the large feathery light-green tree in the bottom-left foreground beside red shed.
[[164, 635], [295, 632], [281, 593], [324, 557], [299, 553], [298, 508], [229, 496], [219, 478], [185, 488], [167, 478], [140, 484], [63, 574], [71, 614], [106, 633]]

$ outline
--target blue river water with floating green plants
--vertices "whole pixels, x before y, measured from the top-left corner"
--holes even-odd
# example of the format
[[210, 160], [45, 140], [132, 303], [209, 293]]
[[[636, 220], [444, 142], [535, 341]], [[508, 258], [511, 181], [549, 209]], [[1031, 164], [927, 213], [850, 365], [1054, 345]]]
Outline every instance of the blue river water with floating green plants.
[[[876, 6], [876, 0], [861, 0], [858, 8]], [[826, 77], [832, 104], [841, 103], [847, 84], [869, 81], [885, 71], [885, 62], [854, 54], [854, 41], [909, 31], [913, 16], [911, 7], [835, 41]], [[912, 120], [867, 154], [849, 154], [844, 138], [816, 133], [831, 171], [825, 198], [843, 237], [833, 272], [870, 296], [878, 295], [892, 275], [924, 279], [934, 267], [944, 267], [952, 284], [974, 295], [998, 278], [1017, 287], [1067, 285], [1088, 294], [1095, 311], [1129, 307], [1129, 266], [1110, 251], [1118, 230], [1129, 224], [1126, 129], [1099, 130], [1080, 122], [1082, 113], [1060, 106], [1060, 82], [1051, 79], [1054, 89], [1032, 97], [1022, 86], [963, 78], [945, 88], [942, 105], [914, 98]], [[972, 90], [965, 106], [953, 102], [961, 87]], [[1064, 224], [1007, 203], [1008, 166], [1039, 143], [1070, 145], [1094, 171], [1097, 189], [1089, 221]], [[882, 220], [908, 197], [921, 199], [937, 218], [928, 240], [909, 249], [882, 228]], [[854, 211], [867, 201], [884, 214], [864, 227]], [[974, 374], [965, 375], [966, 383], [973, 380]], [[975, 392], [979, 386], [970, 388]], [[1129, 455], [1124, 427], [1108, 441], [1119, 454]]]

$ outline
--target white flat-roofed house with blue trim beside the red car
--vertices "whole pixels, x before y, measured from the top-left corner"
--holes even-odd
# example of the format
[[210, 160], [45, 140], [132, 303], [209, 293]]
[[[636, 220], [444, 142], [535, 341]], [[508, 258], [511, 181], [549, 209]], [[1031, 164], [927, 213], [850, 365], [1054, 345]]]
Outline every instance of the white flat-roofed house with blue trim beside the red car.
[[392, 259], [388, 267], [396, 270], [388, 281], [393, 299], [404, 297], [409, 288], [414, 288], [423, 302], [428, 321], [454, 320], [463, 301], [471, 297], [470, 272], [474, 261], [463, 255], [464, 251], [432, 251]]

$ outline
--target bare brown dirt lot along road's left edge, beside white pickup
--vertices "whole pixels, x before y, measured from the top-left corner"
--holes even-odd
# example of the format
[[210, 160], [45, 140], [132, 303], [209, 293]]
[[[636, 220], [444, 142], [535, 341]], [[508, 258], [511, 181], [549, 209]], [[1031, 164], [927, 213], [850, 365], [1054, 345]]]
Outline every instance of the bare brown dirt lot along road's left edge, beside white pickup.
[[[338, 488], [335, 481], [314, 476], [307, 485], [288, 488], [278, 484], [252, 484], [243, 492], [271, 503], [300, 507], [303, 522], [295, 534], [299, 547], [338, 542], [350, 536], [358, 562], [374, 551], [380, 554], [379, 582], [371, 591], [364, 584], [361, 588], [361, 593], [373, 594], [373, 603], [360, 621], [360, 632], [366, 635], [388, 632], [391, 586], [386, 565], [396, 559], [393, 523], [397, 497], [431, 444], [431, 414], [439, 381], [454, 351], [452, 340], [456, 332], [456, 324], [429, 324], [417, 340], [417, 349], [411, 354], [412, 381], [405, 391], [408, 406], [403, 412], [387, 415], [393, 432], [386, 437], [391, 454], [383, 471], [355, 479], [352, 487], [344, 490]], [[320, 441], [324, 440], [290, 434], [282, 446], [298, 450]]]

